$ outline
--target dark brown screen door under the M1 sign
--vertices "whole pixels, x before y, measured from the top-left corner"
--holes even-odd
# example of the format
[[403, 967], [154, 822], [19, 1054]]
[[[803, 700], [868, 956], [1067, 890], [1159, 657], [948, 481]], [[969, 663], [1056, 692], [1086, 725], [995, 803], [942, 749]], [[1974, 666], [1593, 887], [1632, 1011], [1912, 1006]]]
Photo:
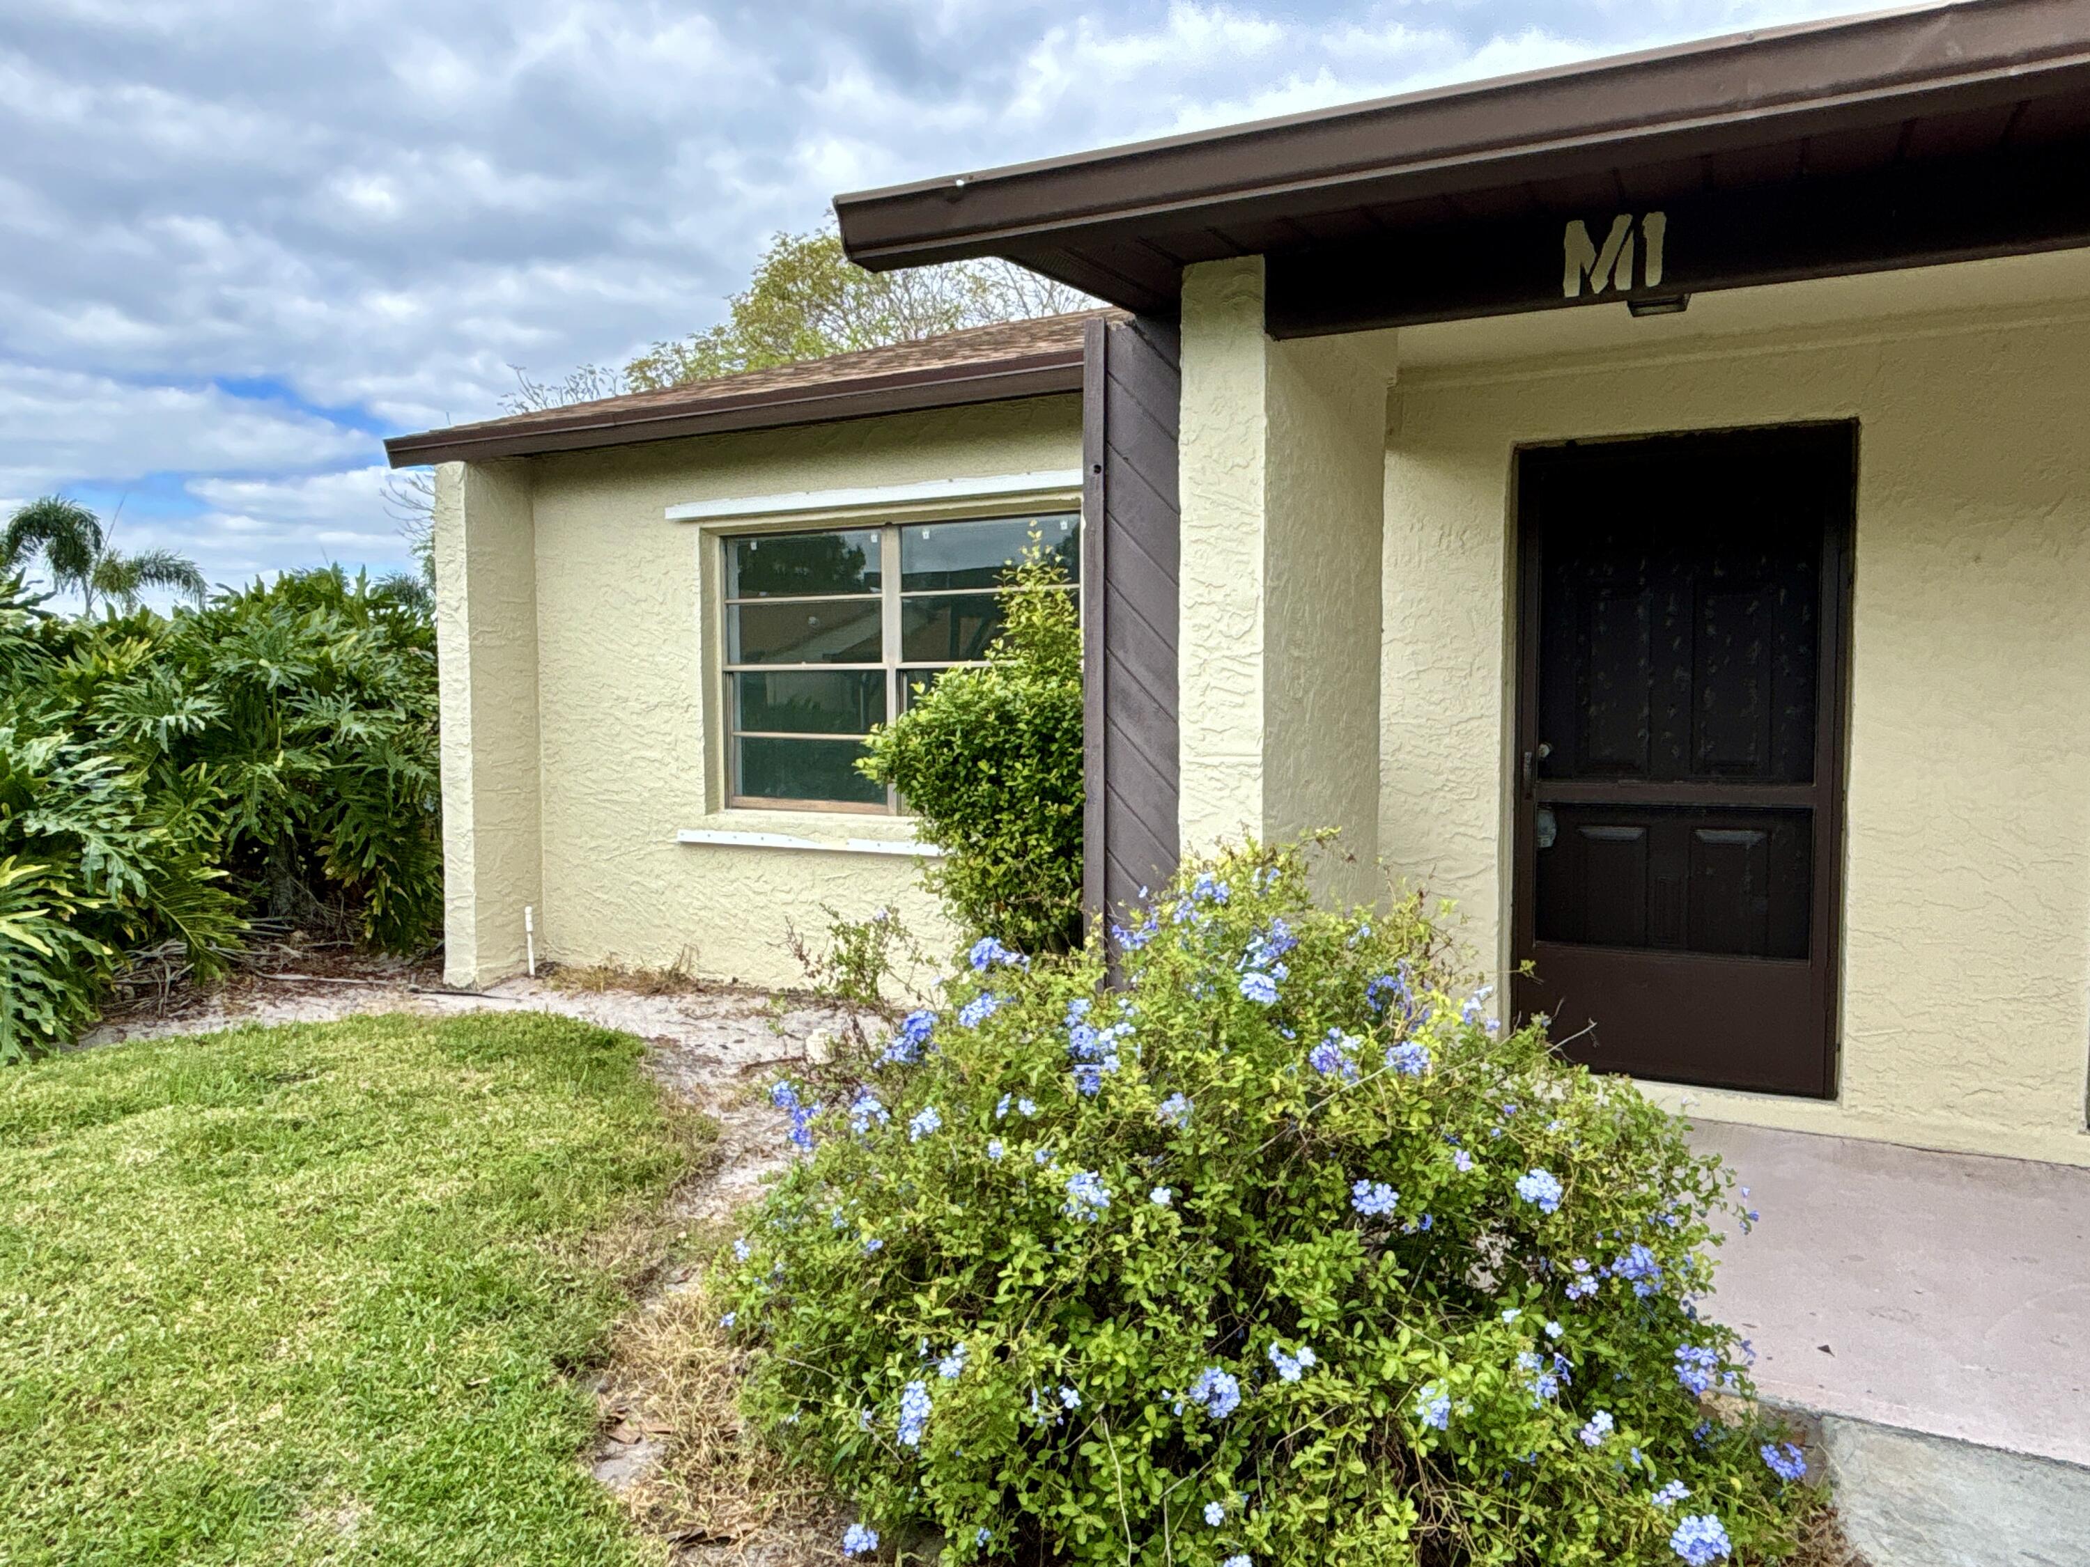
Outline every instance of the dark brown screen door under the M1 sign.
[[1835, 1093], [1856, 426], [1519, 455], [1519, 1013], [1593, 1068]]

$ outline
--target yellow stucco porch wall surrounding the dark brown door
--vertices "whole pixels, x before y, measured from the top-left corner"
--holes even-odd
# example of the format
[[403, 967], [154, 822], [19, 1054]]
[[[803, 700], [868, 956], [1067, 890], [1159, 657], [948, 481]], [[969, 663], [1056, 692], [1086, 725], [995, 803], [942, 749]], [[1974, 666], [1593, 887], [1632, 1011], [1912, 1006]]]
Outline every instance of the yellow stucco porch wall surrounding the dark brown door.
[[1402, 372], [1386, 859], [1507, 965], [1511, 453], [1860, 420], [1841, 1086], [1649, 1084], [1712, 1120], [2090, 1164], [2090, 311]]

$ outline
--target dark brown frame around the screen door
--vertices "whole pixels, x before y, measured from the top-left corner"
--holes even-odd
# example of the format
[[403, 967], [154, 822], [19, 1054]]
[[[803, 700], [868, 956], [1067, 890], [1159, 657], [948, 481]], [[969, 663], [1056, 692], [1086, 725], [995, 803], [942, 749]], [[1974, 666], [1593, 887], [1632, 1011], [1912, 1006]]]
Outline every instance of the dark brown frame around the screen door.
[[[1509, 815], [1511, 815], [1511, 974], [1522, 974], [1536, 949], [1538, 915], [1538, 842], [1536, 802], [1532, 800], [1526, 756], [1538, 748], [1538, 591], [1542, 581], [1540, 518], [1532, 516], [1524, 499], [1524, 462], [1534, 451], [1563, 451], [1572, 447], [1628, 445], [1643, 441], [1680, 441], [1716, 435], [1766, 435], [1779, 432], [1820, 432], [1843, 430], [1850, 439], [1850, 499], [1841, 512], [1829, 518], [1822, 531], [1820, 560], [1820, 660], [1816, 666], [1814, 706], [1814, 777], [1810, 786], [1820, 790], [1814, 804], [1814, 884], [1808, 911], [1808, 967], [1814, 1013], [1822, 1020], [1818, 1080], [1799, 1091], [1768, 1091], [1779, 1097], [1835, 1099], [1839, 1095], [1841, 1057], [1841, 1001], [1843, 1001], [1843, 821], [1848, 796], [1848, 735], [1850, 735], [1850, 631], [1852, 631], [1852, 556], [1858, 518], [1858, 472], [1860, 472], [1860, 422], [1850, 420], [1781, 420], [1776, 424], [1733, 424], [1687, 430], [1653, 430], [1616, 437], [1582, 437], [1570, 441], [1526, 441], [1511, 449], [1511, 529], [1515, 539], [1515, 581], [1511, 633], [1515, 637], [1515, 733], [1509, 754]], [[1515, 984], [1515, 980], [1511, 982]], [[1643, 1074], [1657, 1082], [1685, 1082], [1691, 1078], [1664, 1078]], [[1747, 1093], [1766, 1093], [1747, 1089]]]

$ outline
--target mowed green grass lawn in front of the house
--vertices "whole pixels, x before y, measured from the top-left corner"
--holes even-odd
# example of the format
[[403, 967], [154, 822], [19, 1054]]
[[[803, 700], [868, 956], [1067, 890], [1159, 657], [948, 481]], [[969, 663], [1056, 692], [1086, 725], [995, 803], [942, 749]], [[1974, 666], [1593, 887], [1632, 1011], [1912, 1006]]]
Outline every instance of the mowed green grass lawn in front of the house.
[[568, 1379], [704, 1137], [637, 1055], [525, 1013], [0, 1070], [0, 1563], [658, 1561]]

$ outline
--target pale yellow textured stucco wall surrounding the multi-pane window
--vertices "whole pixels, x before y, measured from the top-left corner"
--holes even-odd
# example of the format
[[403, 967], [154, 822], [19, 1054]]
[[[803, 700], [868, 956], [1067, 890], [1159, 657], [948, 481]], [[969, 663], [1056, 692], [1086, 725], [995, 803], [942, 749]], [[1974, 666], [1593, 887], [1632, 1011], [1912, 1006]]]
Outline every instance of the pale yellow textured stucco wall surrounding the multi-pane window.
[[[836, 842], [909, 836], [867, 815], [725, 811], [715, 627], [698, 527], [669, 506], [1081, 466], [1081, 399], [1045, 397], [846, 424], [700, 437], [531, 462], [541, 809], [539, 953], [796, 984], [786, 921], [897, 905], [949, 940], [915, 861], [677, 844], [681, 829]], [[711, 568], [706, 568], [711, 570]]]

